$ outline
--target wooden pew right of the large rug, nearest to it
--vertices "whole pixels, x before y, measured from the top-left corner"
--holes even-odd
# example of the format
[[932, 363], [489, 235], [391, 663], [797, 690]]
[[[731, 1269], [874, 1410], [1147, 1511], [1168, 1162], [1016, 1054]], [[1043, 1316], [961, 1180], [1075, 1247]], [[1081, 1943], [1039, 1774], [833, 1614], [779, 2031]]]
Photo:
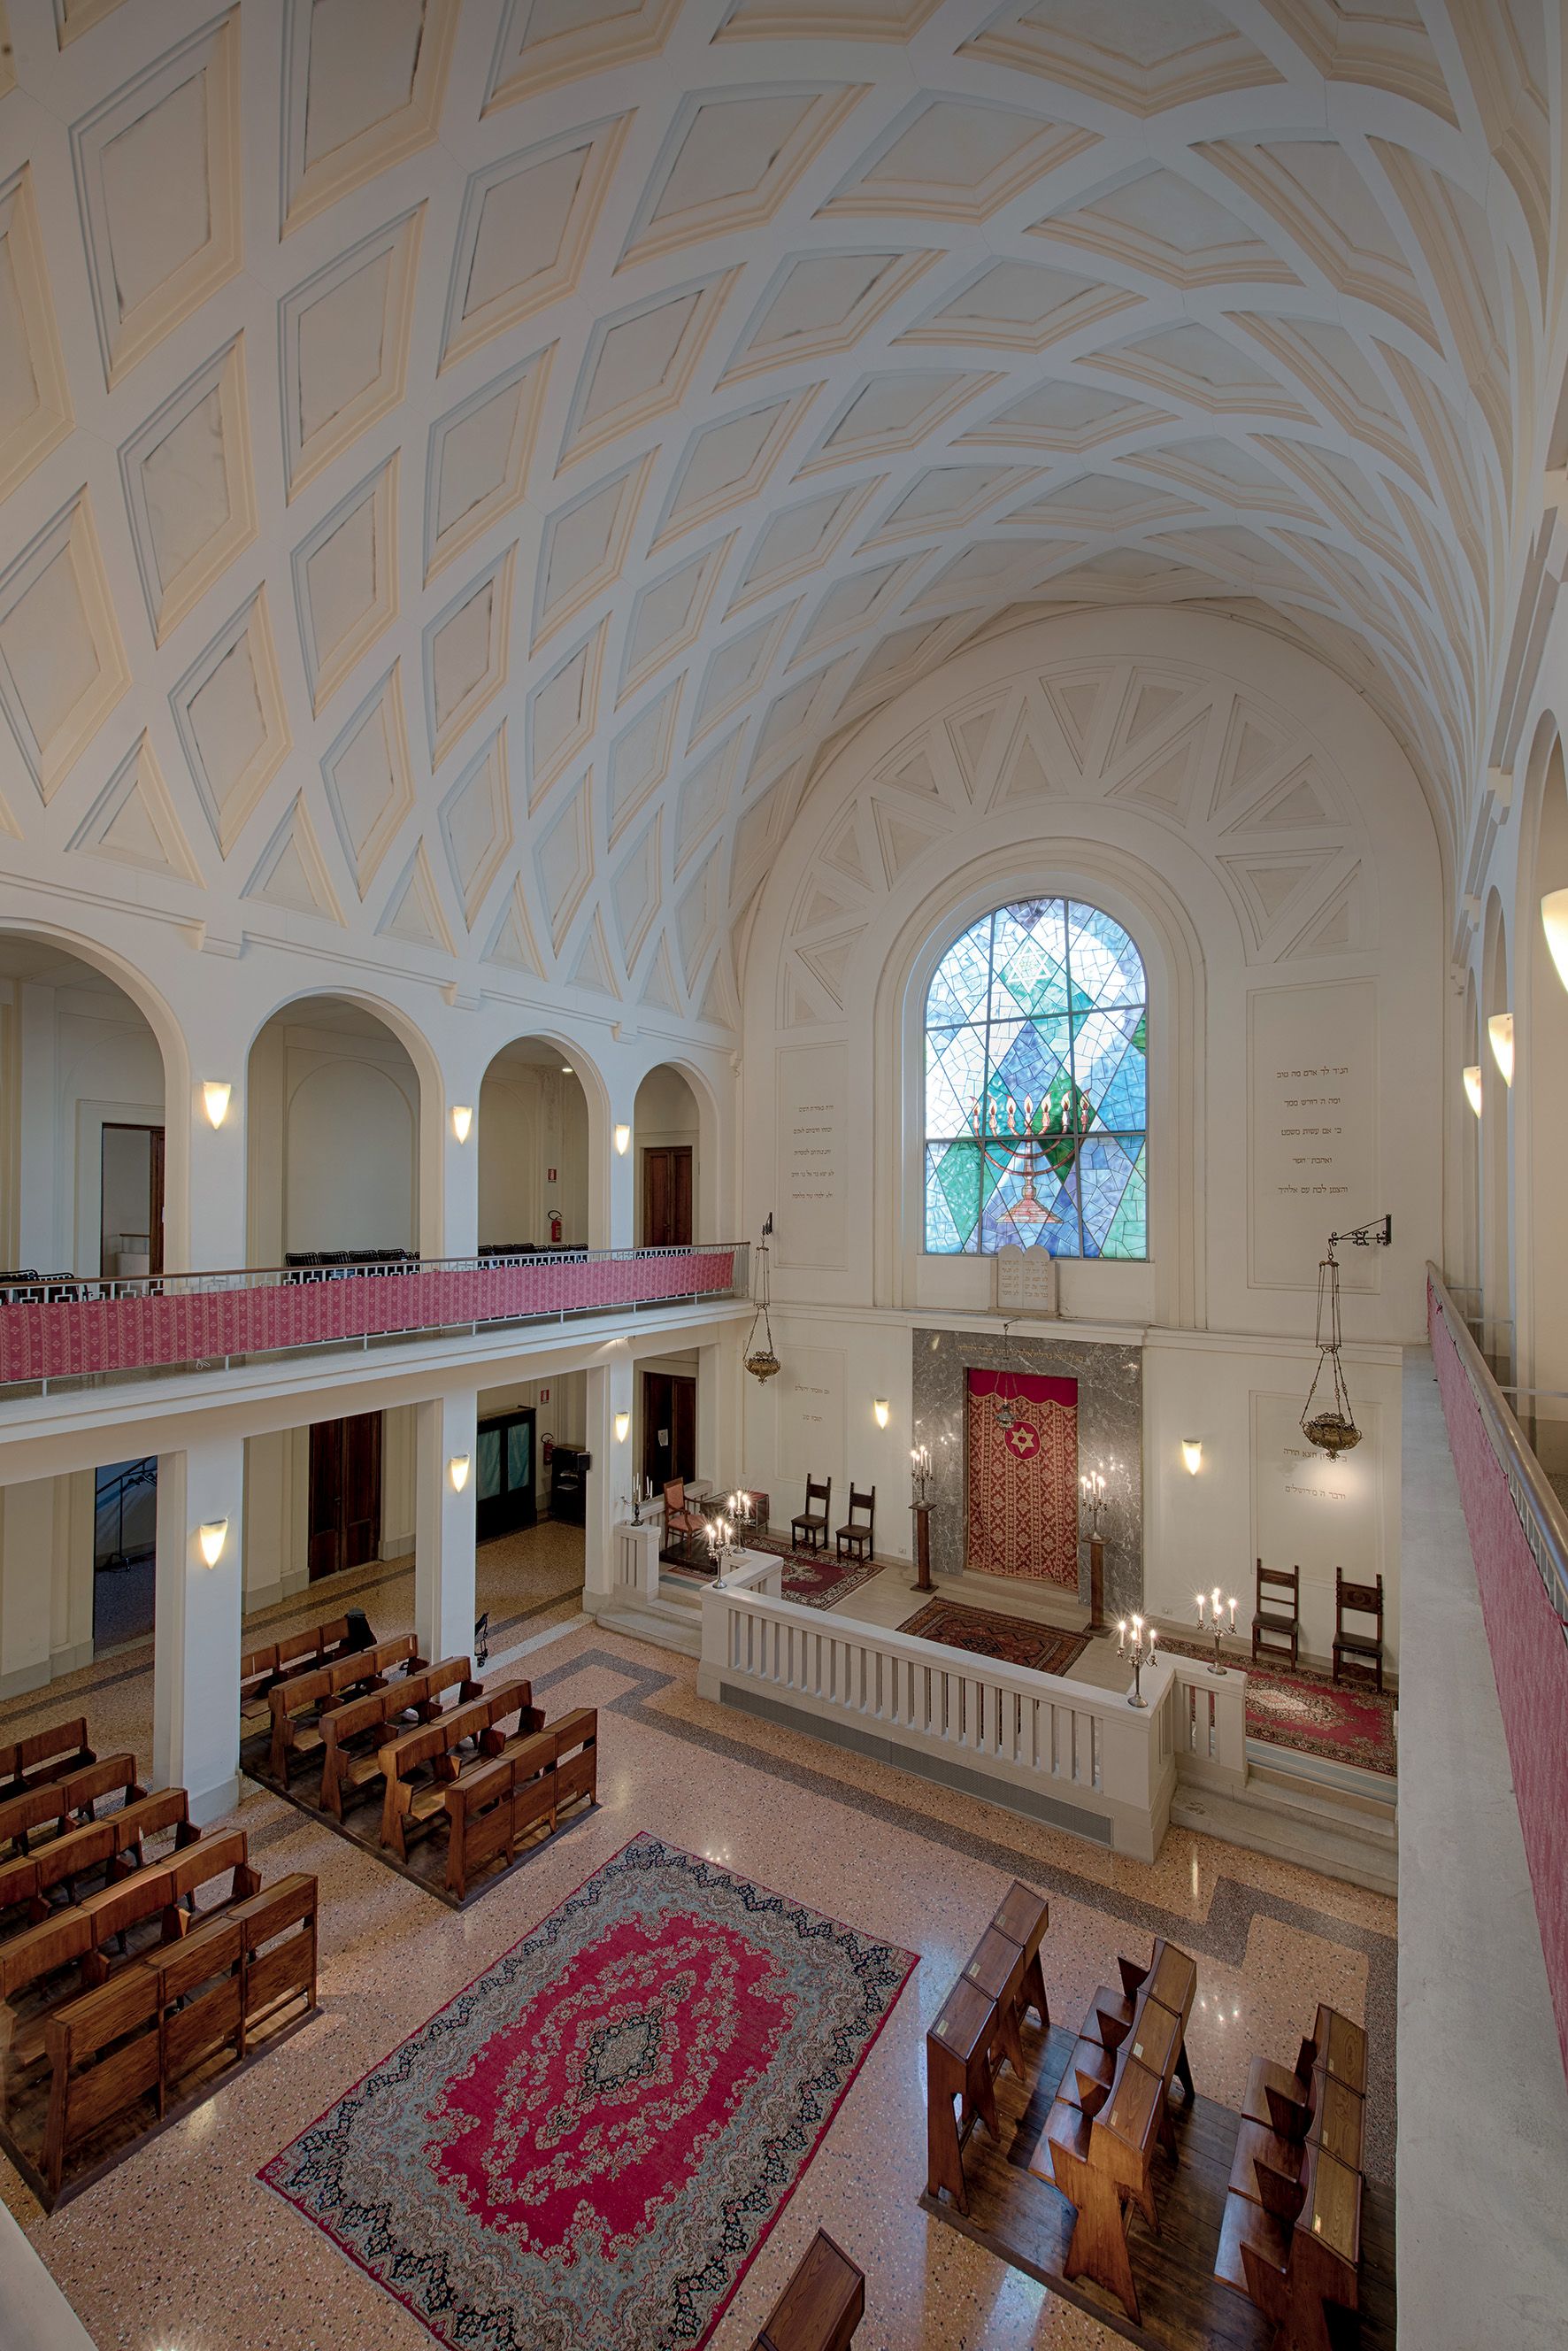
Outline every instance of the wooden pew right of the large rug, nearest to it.
[[926, 2193], [952, 2196], [969, 2212], [964, 2139], [976, 2118], [999, 2135], [994, 2074], [1006, 2059], [1025, 2076], [1023, 2020], [1032, 2008], [1051, 2029], [1039, 1947], [1051, 1904], [1018, 1878], [943, 2001], [926, 2034]]

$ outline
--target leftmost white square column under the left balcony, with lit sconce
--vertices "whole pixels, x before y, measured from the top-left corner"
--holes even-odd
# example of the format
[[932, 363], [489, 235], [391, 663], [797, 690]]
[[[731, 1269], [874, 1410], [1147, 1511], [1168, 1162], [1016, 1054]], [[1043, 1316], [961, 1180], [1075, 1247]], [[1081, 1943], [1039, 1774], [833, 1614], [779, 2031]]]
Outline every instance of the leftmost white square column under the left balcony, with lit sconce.
[[[228, 1521], [207, 1566], [202, 1526]], [[244, 1439], [158, 1455], [153, 1784], [190, 1791], [195, 1822], [240, 1801], [240, 1610]]]

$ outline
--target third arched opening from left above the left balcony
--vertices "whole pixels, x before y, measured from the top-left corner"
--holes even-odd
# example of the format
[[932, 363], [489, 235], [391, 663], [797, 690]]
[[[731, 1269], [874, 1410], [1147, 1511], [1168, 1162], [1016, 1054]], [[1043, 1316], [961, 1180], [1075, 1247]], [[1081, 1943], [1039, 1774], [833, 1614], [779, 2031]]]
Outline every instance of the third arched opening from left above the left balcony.
[[583, 1077], [585, 1063], [552, 1037], [515, 1037], [489, 1063], [477, 1121], [480, 1248], [588, 1246], [592, 1128]]

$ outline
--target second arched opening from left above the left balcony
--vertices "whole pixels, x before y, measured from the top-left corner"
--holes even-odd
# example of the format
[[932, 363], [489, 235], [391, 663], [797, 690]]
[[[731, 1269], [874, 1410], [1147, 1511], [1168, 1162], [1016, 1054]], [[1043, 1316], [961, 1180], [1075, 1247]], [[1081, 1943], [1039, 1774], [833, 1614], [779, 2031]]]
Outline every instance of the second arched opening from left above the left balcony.
[[247, 1063], [247, 1253], [418, 1248], [421, 1077], [369, 1006], [296, 997]]

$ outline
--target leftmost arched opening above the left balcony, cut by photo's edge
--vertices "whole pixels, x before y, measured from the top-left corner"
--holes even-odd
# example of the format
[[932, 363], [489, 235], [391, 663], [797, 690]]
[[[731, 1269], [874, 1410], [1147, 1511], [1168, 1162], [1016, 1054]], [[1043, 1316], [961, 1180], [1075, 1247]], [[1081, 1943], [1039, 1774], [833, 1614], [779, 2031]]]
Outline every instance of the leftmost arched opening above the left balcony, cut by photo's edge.
[[181, 1067], [169, 1072], [174, 1020], [134, 985], [75, 940], [0, 931], [0, 1119], [16, 1138], [0, 1154], [7, 1267], [85, 1277], [183, 1267], [186, 1133], [176, 1119], [172, 1154], [167, 1105], [183, 1114], [186, 1056], [179, 1044]]

